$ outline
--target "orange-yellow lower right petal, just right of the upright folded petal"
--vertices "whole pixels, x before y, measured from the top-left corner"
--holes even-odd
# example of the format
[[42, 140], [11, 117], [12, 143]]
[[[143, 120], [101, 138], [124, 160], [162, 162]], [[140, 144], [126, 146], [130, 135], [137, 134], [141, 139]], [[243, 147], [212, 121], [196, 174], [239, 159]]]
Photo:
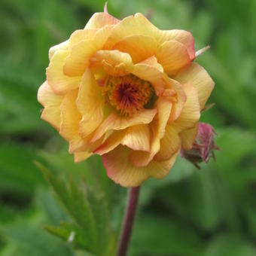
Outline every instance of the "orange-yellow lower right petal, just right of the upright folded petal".
[[160, 151], [154, 156], [154, 160], [168, 160], [181, 147], [181, 138], [178, 135], [178, 130], [175, 126], [166, 125], [166, 133], [163, 139], [160, 140]]

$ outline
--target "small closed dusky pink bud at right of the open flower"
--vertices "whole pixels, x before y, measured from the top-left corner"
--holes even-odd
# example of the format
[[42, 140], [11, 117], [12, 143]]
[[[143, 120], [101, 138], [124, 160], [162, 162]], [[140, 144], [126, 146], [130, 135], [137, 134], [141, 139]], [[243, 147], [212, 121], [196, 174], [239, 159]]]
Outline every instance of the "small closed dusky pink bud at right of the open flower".
[[216, 132], [211, 125], [208, 123], [199, 123], [197, 138], [193, 143], [193, 147], [190, 150], [181, 149], [181, 157], [186, 158], [191, 163], [194, 163], [197, 168], [200, 169], [198, 163], [208, 163], [210, 157], [215, 159], [215, 150], [220, 150], [215, 145]]

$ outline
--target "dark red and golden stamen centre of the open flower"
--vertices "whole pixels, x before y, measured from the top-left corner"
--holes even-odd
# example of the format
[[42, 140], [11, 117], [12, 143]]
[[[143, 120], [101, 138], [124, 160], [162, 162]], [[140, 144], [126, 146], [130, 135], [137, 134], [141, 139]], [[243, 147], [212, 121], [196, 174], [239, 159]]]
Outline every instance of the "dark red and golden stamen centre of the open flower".
[[154, 96], [154, 88], [148, 81], [135, 75], [123, 77], [109, 76], [103, 87], [105, 100], [120, 111], [120, 114], [131, 116], [145, 108]]

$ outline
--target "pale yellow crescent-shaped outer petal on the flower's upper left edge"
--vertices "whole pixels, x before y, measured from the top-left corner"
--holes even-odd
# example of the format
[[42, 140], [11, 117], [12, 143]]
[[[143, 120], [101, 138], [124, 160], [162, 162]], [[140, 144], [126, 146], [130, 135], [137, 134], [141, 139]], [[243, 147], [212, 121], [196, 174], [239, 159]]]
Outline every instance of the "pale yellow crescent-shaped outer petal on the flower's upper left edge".
[[68, 55], [68, 50], [58, 50], [46, 69], [48, 84], [53, 88], [54, 92], [59, 94], [78, 88], [81, 81], [81, 77], [69, 77], [63, 74], [63, 66]]

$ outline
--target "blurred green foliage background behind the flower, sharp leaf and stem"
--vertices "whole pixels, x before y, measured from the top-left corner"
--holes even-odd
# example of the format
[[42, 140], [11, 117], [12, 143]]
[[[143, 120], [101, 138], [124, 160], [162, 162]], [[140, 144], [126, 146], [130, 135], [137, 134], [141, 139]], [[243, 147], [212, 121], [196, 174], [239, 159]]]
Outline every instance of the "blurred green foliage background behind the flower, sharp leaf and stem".
[[[34, 160], [78, 186], [81, 175], [92, 186], [97, 180], [118, 234], [126, 190], [105, 177], [99, 157], [73, 163], [36, 100], [49, 47], [83, 28], [104, 2], [0, 2], [1, 256], [87, 255], [43, 229], [69, 217]], [[161, 29], [192, 32], [196, 50], [211, 45], [197, 59], [216, 83], [209, 99], [216, 105], [202, 120], [222, 148], [200, 170], [178, 159], [165, 179], [145, 182], [130, 255], [256, 255], [256, 1], [111, 0], [108, 11], [151, 12]]]

